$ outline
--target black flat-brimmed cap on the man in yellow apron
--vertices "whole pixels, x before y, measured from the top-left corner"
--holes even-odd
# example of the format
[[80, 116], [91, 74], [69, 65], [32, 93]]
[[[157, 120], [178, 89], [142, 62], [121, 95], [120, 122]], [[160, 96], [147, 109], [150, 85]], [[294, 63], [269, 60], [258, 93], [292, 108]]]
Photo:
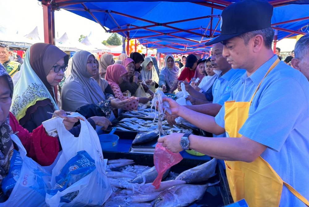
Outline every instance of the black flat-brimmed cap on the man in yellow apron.
[[205, 43], [211, 45], [246, 32], [271, 26], [273, 6], [265, 0], [243, 0], [227, 6], [221, 14], [221, 34]]

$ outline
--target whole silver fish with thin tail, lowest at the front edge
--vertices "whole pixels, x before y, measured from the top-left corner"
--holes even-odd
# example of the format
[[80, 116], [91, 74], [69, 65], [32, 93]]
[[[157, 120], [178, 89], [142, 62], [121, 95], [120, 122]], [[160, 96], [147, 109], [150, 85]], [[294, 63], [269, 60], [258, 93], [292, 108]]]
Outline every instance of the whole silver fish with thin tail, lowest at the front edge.
[[176, 185], [163, 191], [155, 200], [154, 207], [181, 207], [187, 206], [196, 200], [200, 200], [209, 186], [218, 184], [192, 185], [182, 184]]

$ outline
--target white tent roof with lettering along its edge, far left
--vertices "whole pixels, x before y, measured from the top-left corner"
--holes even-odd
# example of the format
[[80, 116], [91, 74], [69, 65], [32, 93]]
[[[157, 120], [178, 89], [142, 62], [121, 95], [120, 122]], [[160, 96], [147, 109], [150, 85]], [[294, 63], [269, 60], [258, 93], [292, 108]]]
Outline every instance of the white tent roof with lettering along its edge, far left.
[[11, 48], [28, 48], [36, 41], [30, 40], [18, 34], [9, 32], [5, 27], [0, 25], [0, 43], [7, 44]]

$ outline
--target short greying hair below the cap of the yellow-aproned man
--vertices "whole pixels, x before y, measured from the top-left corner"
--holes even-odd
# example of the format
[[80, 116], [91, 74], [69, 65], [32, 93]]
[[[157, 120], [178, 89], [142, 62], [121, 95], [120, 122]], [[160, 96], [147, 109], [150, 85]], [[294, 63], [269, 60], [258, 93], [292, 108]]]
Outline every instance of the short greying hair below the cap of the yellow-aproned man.
[[268, 49], [271, 49], [272, 44], [273, 44], [274, 34], [275, 34], [275, 32], [273, 31], [273, 29], [271, 27], [267, 27], [265, 29], [260, 29], [260, 30], [255, 30], [255, 31], [252, 31], [252, 32], [243, 33], [243, 34], [239, 35], [239, 37], [241, 39], [243, 39], [244, 42], [245, 42], [245, 45], [247, 45], [249, 40], [252, 37], [254, 37], [256, 35], [261, 35], [263, 37], [265, 47], [268, 48]]

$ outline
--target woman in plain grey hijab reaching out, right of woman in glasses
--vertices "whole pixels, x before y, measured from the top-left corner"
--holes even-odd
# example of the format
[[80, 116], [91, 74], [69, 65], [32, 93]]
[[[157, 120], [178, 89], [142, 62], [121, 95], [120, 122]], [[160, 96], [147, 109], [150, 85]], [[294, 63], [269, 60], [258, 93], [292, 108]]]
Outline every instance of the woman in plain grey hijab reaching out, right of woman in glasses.
[[[122, 108], [125, 101], [104, 94], [95, 79], [95, 57], [88, 51], [78, 51], [73, 56], [71, 75], [62, 86], [62, 109], [79, 112], [83, 116], [113, 116], [113, 108]], [[111, 99], [111, 100], [109, 100]]]

